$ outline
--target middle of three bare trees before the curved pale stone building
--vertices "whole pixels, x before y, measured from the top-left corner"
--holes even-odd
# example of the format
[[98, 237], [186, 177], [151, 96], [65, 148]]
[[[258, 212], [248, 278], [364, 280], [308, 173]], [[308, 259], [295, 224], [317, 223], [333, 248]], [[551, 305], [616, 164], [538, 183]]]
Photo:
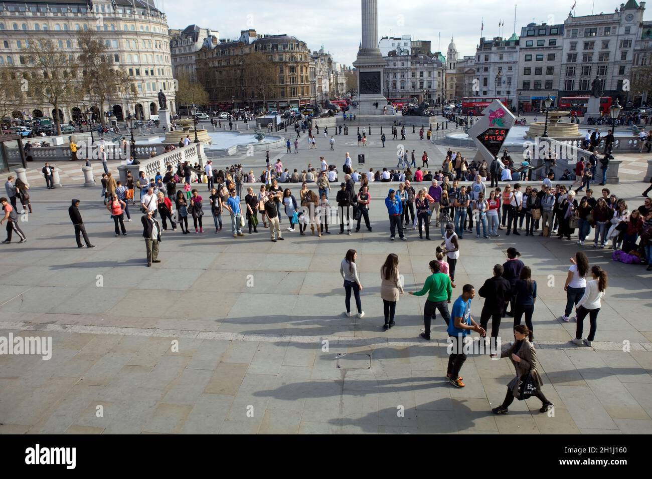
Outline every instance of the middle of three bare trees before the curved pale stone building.
[[[72, 55], [71, 55], [72, 56]], [[25, 66], [29, 96], [54, 107], [54, 123], [57, 135], [61, 134], [59, 106], [78, 97], [78, 74], [74, 59], [61, 53], [52, 40], [40, 38], [29, 42], [21, 63]]]

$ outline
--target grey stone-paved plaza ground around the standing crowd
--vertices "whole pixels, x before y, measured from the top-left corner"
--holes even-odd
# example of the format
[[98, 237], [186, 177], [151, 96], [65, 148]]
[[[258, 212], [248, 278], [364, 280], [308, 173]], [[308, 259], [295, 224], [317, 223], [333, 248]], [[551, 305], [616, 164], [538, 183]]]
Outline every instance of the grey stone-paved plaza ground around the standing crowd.
[[[299, 154], [276, 150], [272, 158], [280, 154], [284, 166], [304, 169], [325, 155], [341, 167], [349, 151], [355, 167], [365, 152], [366, 169], [396, 166], [400, 142], [388, 140], [383, 150], [375, 133], [365, 148], [355, 136], [336, 136], [335, 152], [323, 135], [318, 151], [309, 151], [305, 137]], [[417, 151], [417, 165], [426, 149], [439, 167], [447, 149], [417, 134], [404, 144]], [[629, 169], [647, 160], [630, 158]], [[236, 162], [259, 173], [264, 153], [214, 166]], [[612, 190], [631, 208], [642, 204], [645, 186], [642, 175], [629, 174]], [[445, 381], [443, 320], [437, 315], [432, 341], [421, 340], [425, 298], [407, 294], [421, 289], [441, 235], [431, 231], [426, 241], [408, 231], [407, 242], [390, 242], [386, 184], [372, 184], [372, 233], [363, 226], [337, 235], [333, 225], [321, 239], [297, 229], [273, 243], [261, 227], [235, 239], [226, 214], [218, 235], [207, 214], [207, 233], [166, 232], [162, 263], [147, 268], [138, 209], [125, 222], [128, 236], [116, 238], [100, 189], [62, 182], [45, 190], [31, 181], [35, 212], [22, 224], [28, 240], [0, 248], [0, 336], [50, 336], [53, 345], [50, 360], [0, 356], [0, 433], [652, 433], [652, 273], [614, 263], [610, 250], [584, 248], [592, 265], [607, 270], [609, 287], [593, 347], [576, 347], [575, 323], [559, 319], [574, 241], [473, 233], [460, 242], [453, 299], [465, 283], [479, 289], [509, 246], [539, 285], [535, 345], [554, 414], [539, 413], [539, 401], [529, 399], [494, 416], [514, 375], [511, 363], [469, 356], [461, 372], [466, 387]], [[95, 250], [76, 247], [72, 198], [82, 200]], [[349, 248], [359, 255], [362, 319], [343, 314], [339, 266]], [[379, 269], [391, 252], [406, 294], [396, 326], [385, 332]], [[482, 302], [473, 300], [476, 318]], [[511, 325], [503, 319], [504, 341], [512, 339]]]

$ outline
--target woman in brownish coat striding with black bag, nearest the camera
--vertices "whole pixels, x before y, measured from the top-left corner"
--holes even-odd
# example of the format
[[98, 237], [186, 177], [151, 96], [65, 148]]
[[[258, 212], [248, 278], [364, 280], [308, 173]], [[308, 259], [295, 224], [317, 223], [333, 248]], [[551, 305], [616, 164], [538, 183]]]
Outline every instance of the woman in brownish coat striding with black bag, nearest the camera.
[[[537, 351], [534, 349], [534, 345], [530, 342], [532, 338], [532, 332], [525, 325], [516, 325], [514, 327], [514, 344], [503, 351], [500, 354], [501, 358], [509, 356], [514, 368], [516, 369], [516, 377], [509, 381], [507, 385], [507, 394], [505, 395], [505, 400], [502, 405], [494, 407], [492, 412], [494, 414], [507, 414], [507, 408], [511, 405], [514, 398], [518, 398], [518, 383], [521, 377], [526, 375], [528, 372], [532, 375], [534, 383], [537, 386], [537, 398], [541, 399], [543, 405], [539, 412], [545, 413], [548, 409], [551, 409], [554, 404], [548, 401], [546, 396], [544, 396], [541, 391], [541, 386], [543, 381], [541, 375], [537, 372]], [[496, 355], [492, 355], [496, 356]]]

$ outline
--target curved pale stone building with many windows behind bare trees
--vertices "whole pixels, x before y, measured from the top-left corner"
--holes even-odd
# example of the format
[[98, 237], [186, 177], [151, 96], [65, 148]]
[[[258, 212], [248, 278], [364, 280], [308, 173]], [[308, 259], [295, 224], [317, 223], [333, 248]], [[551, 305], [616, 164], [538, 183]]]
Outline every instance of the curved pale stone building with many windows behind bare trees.
[[[174, 81], [170, 64], [170, 36], [166, 15], [153, 0], [32, 0], [0, 3], [0, 67], [21, 65], [22, 50], [38, 38], [52, 40], [59, 50], [78, 56], [77, 33], [95, 30], [104, 39], [115, 66], [123, 68], [136, 87], [137, 96], [108, 98], [93, 106], [98, 117], [111, 111], [121, 120], [128, 113], [138, 119], [158, 115], [157, 95], [163, 90], [168, 109], [175, 112]], [[63, 101], [59, 117], [63, 122], [82, 117], [91, 109], [89, 101]], [[53, 117], [51, 105], [30, 102], [14, 116]]]

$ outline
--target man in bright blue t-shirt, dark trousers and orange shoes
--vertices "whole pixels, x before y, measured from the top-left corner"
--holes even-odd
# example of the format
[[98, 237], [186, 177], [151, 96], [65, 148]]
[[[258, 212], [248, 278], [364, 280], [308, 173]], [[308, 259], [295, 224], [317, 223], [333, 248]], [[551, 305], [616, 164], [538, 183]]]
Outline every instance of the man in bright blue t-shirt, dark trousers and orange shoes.
[[466, 361], [464, 354], [464, 338], [471, 331], [478, 332], [484, 336], [484, 329], [477, 325], [471, 317], [471, 300], [475, 297], [473, 285], [465, 284], [462, 288], [462, 295], [457, 298], [452, 306], [451, 318], [447, 332], [451, 337], [452, 350], [449, 351], [449, 364], [446, 377], [456, 388], [463, 388], [460, 369]]

